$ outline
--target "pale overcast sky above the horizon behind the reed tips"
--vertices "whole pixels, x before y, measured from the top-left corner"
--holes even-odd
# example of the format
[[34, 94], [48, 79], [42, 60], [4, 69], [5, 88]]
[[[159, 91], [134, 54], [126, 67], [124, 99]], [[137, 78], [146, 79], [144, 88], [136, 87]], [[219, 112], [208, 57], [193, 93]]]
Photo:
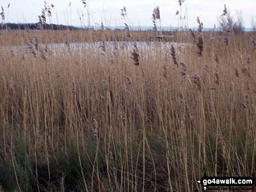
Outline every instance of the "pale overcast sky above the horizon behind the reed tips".
[[[88, 25], [87, 8], [83, 8], [82, 0], [47, 0], [48, 5], [54, 5], [51, 20], [47, 23], [69, 24], [78, 26]], [[69, 6], [71, 2], [71, 6]], [[196, 27], [199, 17], [204, 27], [218, 26], [217, 17], [222, 14], [224, 4], [227, 5], [232, 16], [242, 13], [245, 27], [252, 27], [252, 20], [256, 23], [256, 0], [186, 0], [182, 6], [182, 16], [186, 7], [188, 10], [188, 27]], [[44, 0], [1, 0], [5, 12], [5, 22], [37, 23], [38, 15], [44, 6]], [[7, 9], [8, 4], [10, 7]], [[122, 26], [121, 8], [126, 7], [130, 26], [152, 26], [152, 12], [154, 7], [160, 7], [161, 25], [177, 27], [180, 10], [177, 0], [86, 0], [89, 3], [90, 24], [105, 26]], [[82, 14], [84, 15], [82, 17]], [[82, 19], [80, 20], [79, 17]], [[128, 20], [126, 20], [128, 22]]]

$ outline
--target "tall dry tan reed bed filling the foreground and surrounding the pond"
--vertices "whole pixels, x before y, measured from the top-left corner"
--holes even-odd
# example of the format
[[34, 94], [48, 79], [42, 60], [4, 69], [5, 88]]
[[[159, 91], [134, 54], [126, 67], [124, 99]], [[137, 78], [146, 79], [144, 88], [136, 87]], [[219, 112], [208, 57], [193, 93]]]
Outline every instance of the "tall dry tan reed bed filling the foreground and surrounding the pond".
[[179, 34], [186, 46], [104, 44], [104, 55], [43, 44], [127, 31], [0, 32], [4, 190], [192, 192], [204, 168], [256, 171], [255, 34], [227, 45], [222, 33], [190, 31]]

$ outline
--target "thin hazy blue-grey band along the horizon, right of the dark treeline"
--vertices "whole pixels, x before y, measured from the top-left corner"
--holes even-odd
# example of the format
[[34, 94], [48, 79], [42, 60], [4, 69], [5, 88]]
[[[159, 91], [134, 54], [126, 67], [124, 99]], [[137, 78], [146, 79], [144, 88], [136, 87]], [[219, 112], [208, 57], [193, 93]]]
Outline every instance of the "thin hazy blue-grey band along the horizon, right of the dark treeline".
[[[81, 27], [81, 28], [85, 28], [88, 29], [87, 26], [74, 26], [74, 27]], [[95, 30], [99, 30], [100, 26], [95, 25], [95, 26], [91, 26], [91, 28], [95, 29]], [[104, 26], [105, 29], [110, 29], [110, 30], [115, 30], [115, 29], [119, 29], [119, 30], [124, 30], [125, 26], [109, 26], [106, 27]], [[197, 30], [197, 27], [191, 27], [190, 29], [192, 30]], [[153, 26], [130, 26], [130, 30], [153, 30]], [[160, 30], [160, 27], [157, 27], [157, 30]], [[165, 30], [165, 31], [172, 31], [172, 30], [186, 30], [185, 28], [178, 28], [178, 27], [161, 27], [161, 30]], [[210, 31], [211, 28], [203, 28], [203, 31]], [[220, 31], [221, 28], [217, 27], [216, 28], [217, 31]], [[244, 28], [245, 31], [253, 31], [253, 28]]]

